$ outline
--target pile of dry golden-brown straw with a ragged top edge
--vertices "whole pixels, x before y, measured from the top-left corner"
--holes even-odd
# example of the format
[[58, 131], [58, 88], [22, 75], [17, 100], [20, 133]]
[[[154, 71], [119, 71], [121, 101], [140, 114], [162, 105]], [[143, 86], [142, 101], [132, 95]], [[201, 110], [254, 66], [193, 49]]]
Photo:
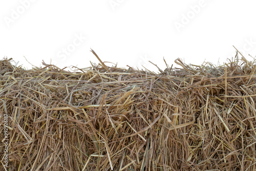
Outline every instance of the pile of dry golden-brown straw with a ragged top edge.
[[102, 61], [69, 72], [1, 60], [7, 169], [256, 170], [255, 62], [175, 62], [181, 69], [156, 74]]

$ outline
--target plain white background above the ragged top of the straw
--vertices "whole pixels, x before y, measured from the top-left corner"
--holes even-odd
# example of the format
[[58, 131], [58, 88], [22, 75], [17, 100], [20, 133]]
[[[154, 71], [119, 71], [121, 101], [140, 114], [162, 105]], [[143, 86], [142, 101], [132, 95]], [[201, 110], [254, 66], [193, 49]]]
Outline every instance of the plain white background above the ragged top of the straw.
[[[220, 64], [235, 46], [256, 55], [255, 1], [20, 0], [0, 2], [0, 57], [18, 65], [90, 67], [99, 61], [118, 67], [165, 69], [181, 58]], [[77, 38], [80, 37], [80, 38]], [[86, 38], [85, 38], [86, 37]], [[25, 56], [25, 57], [24, 57]], [[112, 66], [112, 63], [106, 63]]]

